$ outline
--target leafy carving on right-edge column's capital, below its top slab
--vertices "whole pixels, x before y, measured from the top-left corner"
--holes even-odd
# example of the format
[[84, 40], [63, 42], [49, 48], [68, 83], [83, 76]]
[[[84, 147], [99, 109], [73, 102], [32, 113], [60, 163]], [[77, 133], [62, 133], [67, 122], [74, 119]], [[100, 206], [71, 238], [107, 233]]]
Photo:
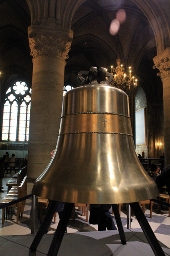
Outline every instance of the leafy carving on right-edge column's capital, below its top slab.
[[163, 79], [166, 76], [170, 75], [170, 56], [165, 57], [164, 59], [161, 59], [157, 65], [153, 66], [153, 69], [159, 69], [159, 73], [157, 73], [157, 76], [160, 75], [161, 79]]

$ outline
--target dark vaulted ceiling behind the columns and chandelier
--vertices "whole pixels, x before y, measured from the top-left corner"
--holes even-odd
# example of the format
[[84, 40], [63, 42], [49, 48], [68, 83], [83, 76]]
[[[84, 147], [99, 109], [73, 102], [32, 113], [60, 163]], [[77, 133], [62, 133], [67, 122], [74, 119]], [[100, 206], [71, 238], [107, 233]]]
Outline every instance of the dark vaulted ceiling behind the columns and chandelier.
[[[118, 33], [111, 35], [109, 27], [118, 10], [126, 15]], [[1, 88], [22, 76], [29, 84], [32, 79], [27, 29], [31, 18], [26, 0], [0, 1], [0, 70]], [[119, 57], [125, 70], [132, 67], [138, 84], [147, 95], [162, 94], [162, 84], [152, 69], [157, 55], [151, 26], [141, 10], [131, 0], [86, 0], [76, 11], [71, 29], [74, 38], [65, 67], [64, 83], [77, 86], [77, 73], [91, 66], [116, 67]], [[111, 70], [110, 70], [111, 71]]]

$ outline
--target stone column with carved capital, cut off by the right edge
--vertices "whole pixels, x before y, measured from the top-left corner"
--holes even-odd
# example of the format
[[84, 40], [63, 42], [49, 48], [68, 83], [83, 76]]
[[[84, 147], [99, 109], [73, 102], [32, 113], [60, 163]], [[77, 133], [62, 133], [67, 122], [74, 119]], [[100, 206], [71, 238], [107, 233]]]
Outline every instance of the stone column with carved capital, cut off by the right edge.
[[153, 68], [160, 70], [163, 82], [164, 97], [164, 143], [165, 143], [165, 167], [170, 165], [170, 47], [154, 57]]

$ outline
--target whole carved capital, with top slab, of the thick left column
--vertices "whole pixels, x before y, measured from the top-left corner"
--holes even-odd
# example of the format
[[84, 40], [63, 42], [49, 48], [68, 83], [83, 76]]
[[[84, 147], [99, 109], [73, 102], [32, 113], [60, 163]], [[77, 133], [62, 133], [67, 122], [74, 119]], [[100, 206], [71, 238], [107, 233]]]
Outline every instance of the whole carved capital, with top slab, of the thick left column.
[[68, 52], [71, 48], [73, 33], [71, 30], [50, 30], [42, 29], [40, 26], [30, 26], [29, 48], [30, 55], [37, 56], [54, 56], [62, 59], [68, 59]]

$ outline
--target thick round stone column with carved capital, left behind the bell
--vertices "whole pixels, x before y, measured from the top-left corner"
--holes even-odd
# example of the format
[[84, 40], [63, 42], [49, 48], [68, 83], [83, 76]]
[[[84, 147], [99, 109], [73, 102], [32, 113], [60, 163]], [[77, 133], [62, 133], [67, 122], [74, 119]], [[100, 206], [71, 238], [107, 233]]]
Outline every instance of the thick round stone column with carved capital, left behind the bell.
[[35, 180], [48, 166], [50, 152], [56, 148], [65, 59], [68, 58], [73, 33], [71, 30], [30, 26], [28, 34], [33, 56], [28, 177]]

